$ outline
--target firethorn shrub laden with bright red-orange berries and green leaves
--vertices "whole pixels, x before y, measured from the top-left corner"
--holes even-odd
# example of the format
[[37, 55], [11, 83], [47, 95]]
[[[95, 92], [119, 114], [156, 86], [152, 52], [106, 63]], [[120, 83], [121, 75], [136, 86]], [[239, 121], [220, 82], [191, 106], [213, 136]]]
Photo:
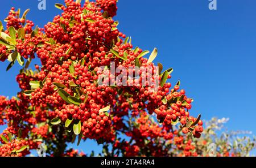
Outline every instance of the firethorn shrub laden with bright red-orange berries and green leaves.
[[[176, 142], [187, 133], [201, 136], [201, 115], [194, 118], [189, 113], [193, 99], [180, 89], [180, 81], [171, 89], [167, 79], [172, 68], [162, 72], [162, 64], [152, 63], [157, 49], [144, 58], [149, 51], [134, 48], [131, 38], [118, 31], [118, 21], [113, 20], [116, 0], [85, 1], [84, 5], [65, 0], [65, 5], [55, 7], [62, 14], [44, 28], [26, 19], [29, 10], [20, 15], [14, 7], [4, 20], [6, 29], [0, 22], [0, 60], [10, 62], [7, 71], [16, 62], [22, 66], [16, 76], [20, 92], [10, 100], [0, 97], [0, 124], [7, 124], [1, 133], [0, 156], [26, 156], [41, 143], [46, 144], [48, 156], [85, 156], [66, 149], [76, 138], [77, 145], [93, 139], [114, 148], [122, 146], [124, 156], [137, 156], [142, 147], [118, 143], [119, 133], [136, 141], [138, 135], [150, 137], [146, 147], [154, 156], [158, 150], [168, 150], [155, 146], [158, 137]], [[42, 65], [35, 65], [33, 71], [30, 63], [36, 57]], [[98, 84], [111, 62], [115, 68], [143, 67], [158, 75], [141, 73], [129, 87], [120, 85], [121, 79], [111, 86]], [[119, 74], [109, 74], [109, 79]], [[144, 76], [159, 82], [156, 90], [141, 84]], [[158, 123], [151, 123], [152, 114]], [[177, 131], [184, 137], [176, 137]]]

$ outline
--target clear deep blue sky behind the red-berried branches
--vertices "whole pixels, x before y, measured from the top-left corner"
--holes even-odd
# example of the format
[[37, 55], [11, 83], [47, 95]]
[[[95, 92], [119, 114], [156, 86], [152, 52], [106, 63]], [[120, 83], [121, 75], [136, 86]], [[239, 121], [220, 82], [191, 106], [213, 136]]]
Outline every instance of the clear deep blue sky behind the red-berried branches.
[[[43, 27], [61, 13], [54, 4], [64, 1], [46, 0], [46, 10], [38, 10], [38, 3], [2, 1], [0, 19], [12, 6], [30, 8], [27, 19]], [[133, 38], [134, 46], [158, 48], [154, 62], [174, 68], [171, 83], [181, 80], [181, 87], [194, 98], [193, 115], [200, 113], [207, 120], [229, 117], [229, 130], [256, 134], [256, 1], [217, 0], [216, 11], [208, 4], [208, 0], [119, 0], [114, 20]], [[20, 67], [16, 64], [9, 72], [6, 67], [7, 62], [0, 63], [0, 95], [11, 97], [19, 91], [15, 76]], [[89, 141], [80, 149], [97, 152], [100, 147]]]

